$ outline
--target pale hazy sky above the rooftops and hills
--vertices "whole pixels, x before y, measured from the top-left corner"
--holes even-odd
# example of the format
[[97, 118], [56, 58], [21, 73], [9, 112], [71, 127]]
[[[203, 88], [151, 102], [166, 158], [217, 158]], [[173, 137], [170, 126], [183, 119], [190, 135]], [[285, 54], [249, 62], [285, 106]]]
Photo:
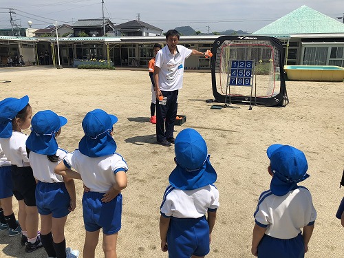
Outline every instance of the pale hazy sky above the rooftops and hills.
[[[118, 3], [120, 2], [120, 3]], [[244, 30], [255, 32], [272, 21], [305, 5], [337, 21], [343, 17], [343, 0], [240, 0], [240, 1], [114, 1], [104, 0], [104, 14], [113, 23], [138, 19], [164, 30], [189, 25], [201, 32]], [[54, 21], [71, 24], [78, 19], [103, 17], [101, 0], [1, 0], [0, 28], [10, 28], [8, 8], [14, 8], [14, 23], [22, 28], [44, 28]]]

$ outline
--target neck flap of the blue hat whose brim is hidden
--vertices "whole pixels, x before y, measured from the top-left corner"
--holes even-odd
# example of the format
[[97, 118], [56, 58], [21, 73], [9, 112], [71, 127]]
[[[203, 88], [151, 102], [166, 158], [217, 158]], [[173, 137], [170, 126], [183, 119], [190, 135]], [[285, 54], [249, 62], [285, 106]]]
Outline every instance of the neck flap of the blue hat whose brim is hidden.
[[196, 171], [187, 171], [177, 163], [169, 175], [170, 184], [176, 189], [193, 190], [215, 183], [217, 174], [209, 158], [210, 155], [206, 158], [202, 168]]

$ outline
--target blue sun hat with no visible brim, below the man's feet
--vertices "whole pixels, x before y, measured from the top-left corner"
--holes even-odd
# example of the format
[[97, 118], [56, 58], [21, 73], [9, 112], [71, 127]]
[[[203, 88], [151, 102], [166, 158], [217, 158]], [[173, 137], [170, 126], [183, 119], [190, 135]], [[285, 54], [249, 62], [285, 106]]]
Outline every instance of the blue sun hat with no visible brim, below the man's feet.
[[187, 128], [175, 138], [177, 166], [169, 176], [176, 189], [193, 190], [216, 181], [216, 171], [209, 161], [206, 141], [195, 129]]

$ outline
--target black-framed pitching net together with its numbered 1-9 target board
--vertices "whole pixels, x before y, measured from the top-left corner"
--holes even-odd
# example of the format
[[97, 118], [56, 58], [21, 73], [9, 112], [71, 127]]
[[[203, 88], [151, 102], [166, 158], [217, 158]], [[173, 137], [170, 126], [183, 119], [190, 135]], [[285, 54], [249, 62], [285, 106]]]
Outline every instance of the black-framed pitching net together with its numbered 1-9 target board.
[[[251, 78], [248, 65], [252, 62]], [[236, 65], [241, 64], [241, 67]], [[224, 103], [230, 95], [233, 102], [247, 102], [251, 96], [257, 104], [274, 106], [288, 100], [283, 72], [283, 47], [266, 36], [221, 36], [215, 40], [212, 57], [213, 94]], [[245, 87], [252, 85], [251, 87]], [[228, 87], [230, 89], [228, 90]]]

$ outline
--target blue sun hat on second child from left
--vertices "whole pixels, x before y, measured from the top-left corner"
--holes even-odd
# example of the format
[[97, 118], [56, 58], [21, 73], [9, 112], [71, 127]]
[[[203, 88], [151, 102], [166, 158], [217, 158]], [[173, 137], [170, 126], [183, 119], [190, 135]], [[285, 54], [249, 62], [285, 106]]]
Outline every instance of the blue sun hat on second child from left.
[[32, 117], [31, 133], [26, 140], [26, 147], [35, 153], [54, 155], [58, 149], [55, 134], [63, 125], [67, 124], [67, 118], [58, 116], [51, 110], [39, 111]]

